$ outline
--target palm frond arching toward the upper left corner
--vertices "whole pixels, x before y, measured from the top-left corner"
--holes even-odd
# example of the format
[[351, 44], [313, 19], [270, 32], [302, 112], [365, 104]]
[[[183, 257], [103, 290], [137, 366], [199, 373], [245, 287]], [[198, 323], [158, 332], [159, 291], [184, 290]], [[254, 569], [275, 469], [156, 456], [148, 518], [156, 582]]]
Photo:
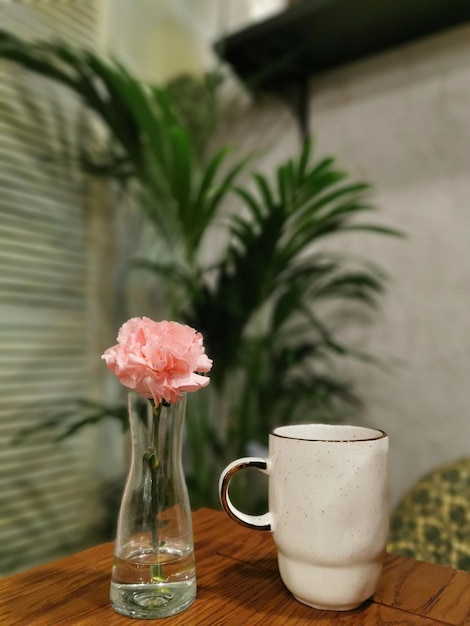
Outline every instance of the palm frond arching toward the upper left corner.
[[[145, 196], [141, 206], [168, 250], [182, 247], [191, 261], [243, 161], [225, 167], [227, 148], [201, 161], [204, 132], [200, 123], [191, 125], [182, 106], [185, 82], [178, 79], [166, 89], [147, 85], [118, 62], [91, 51], [62, 42], [27, 42], [1, 29], [0, 58], [79, 96], [107, 131], [107, 142], [98, 151], [83, 154], [84, 166], [121, 185], [137, 181]], [[213, 74], [194, 83], [208, 114], [214, 115], [219, 82]]]

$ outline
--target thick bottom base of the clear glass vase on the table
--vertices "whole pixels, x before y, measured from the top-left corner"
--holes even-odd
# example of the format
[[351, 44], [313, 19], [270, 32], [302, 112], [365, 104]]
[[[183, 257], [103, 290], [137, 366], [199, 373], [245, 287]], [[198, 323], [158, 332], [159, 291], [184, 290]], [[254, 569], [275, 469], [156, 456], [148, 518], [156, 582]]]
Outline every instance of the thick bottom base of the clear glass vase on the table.
[[110, 600], [113, 609], [137, 619], [159, 619], [176, 615], [191, 606], [195, 599], [195, 578], [178, 583], [111, 583]]

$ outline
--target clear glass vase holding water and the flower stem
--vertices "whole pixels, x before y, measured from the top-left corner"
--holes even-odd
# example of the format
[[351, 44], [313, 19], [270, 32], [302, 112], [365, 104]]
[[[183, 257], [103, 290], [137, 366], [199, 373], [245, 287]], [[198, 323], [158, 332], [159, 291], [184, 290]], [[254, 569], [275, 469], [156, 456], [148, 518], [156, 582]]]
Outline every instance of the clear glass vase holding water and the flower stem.
[[186, 397], [155, 408], [132, 392], [128, 406], [132, 459], [119, 512], [111, 605], [129, 617], [168, 617], [196, 597], [182, 465]]

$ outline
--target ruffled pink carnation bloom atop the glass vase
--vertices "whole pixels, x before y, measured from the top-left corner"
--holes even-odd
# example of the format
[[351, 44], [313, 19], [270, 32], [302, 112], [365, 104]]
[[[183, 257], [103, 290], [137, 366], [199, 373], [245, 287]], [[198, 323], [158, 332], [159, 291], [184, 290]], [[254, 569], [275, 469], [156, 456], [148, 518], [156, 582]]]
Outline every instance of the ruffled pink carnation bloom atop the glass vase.
[[153, 398], [155, 406], [209, 384], [200, 373], [208, 372], [212, 361], [201, 333], [190, 326], [134, 317], [121, 326], [117, 340], [101, 358], [125, 387]]

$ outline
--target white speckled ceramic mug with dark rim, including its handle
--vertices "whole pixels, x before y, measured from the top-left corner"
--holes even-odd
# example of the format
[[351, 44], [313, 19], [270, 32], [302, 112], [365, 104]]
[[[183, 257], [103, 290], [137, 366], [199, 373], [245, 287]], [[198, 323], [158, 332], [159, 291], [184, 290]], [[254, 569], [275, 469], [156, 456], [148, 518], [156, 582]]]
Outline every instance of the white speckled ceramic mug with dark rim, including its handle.
[[[223, 508], [240, 524], [271, 530], [281, 578], [304, 604], [335, 611], [376, 590], [388, 535], [388, 436], [360, 426], [299, 424], [269, 435], [269, 458], [246, 457], [220, 476]], [[232, 476], [269, 475], [269, 512], [239, 511]]]

